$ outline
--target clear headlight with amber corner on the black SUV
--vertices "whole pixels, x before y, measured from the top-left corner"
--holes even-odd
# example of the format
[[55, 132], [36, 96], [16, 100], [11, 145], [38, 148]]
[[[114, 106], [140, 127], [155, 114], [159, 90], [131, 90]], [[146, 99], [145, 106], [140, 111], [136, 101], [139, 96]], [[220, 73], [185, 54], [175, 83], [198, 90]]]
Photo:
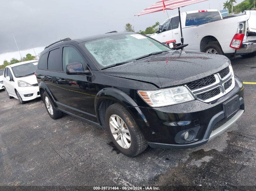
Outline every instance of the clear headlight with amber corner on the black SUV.
[[168, 106], [195, 99], [185, 86], [154, 91], [138, 90], [138, 94], [152, 107]]

